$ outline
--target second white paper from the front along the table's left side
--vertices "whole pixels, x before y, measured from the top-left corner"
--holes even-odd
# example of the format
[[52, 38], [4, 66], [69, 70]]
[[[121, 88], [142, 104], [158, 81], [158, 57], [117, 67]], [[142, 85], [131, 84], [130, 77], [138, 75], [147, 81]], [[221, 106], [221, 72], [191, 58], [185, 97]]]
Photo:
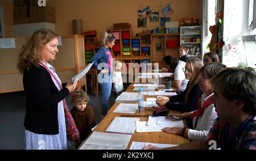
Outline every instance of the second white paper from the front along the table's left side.
[[139, 121], [139, 118], [115, 117], [106, 132], [133, 134], [136, 129], [135, 121]]

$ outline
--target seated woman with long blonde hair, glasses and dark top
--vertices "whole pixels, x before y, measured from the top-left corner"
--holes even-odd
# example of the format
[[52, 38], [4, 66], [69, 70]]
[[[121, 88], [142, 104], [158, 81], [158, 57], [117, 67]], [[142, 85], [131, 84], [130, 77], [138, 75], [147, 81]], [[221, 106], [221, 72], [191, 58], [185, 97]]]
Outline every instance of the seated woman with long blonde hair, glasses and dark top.
[[184, 68], [186, 79], [190, 80], [187, 84], [187, 88], [180, 95], [165, 97], [158, 96], [156, 104], [159, 107], [166, 107], [171, 110], [190, 112], [197, 109], [197, 103], [203, 92], [199, 88], [199, 73], [203, 63], [199, 58], [193, 58], [187, 60]]

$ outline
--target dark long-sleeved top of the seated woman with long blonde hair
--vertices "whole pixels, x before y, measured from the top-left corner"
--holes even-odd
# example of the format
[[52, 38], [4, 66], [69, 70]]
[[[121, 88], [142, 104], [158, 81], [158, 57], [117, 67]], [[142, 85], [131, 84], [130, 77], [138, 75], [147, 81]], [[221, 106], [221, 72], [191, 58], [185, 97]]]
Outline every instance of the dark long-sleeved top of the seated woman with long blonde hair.
[[197, 110], [198, 101], [203, 95], [203, 91], [199, 88], [199, 83], [197, 82], [195, 86], [192, 88], [192, 91], [188, 98], [188, 103], [185, 103], [185, 95], [187, 94], [189, 88], [190, 81], [187, 84], [187, 88], [180, 95], [170, 97], [170, 101], [166, 104], [166, 108], [180, 111], [180, 112], [191, 112]]

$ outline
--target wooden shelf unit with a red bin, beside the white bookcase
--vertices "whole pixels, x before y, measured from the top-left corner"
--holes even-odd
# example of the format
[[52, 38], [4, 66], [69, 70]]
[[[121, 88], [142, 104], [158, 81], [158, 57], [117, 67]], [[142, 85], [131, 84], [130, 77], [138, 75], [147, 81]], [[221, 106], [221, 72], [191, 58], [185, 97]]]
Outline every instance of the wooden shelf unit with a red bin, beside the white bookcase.
[[171, 55], [179, 58], [180, 33], [160, 33], [151, 35], [151, 56], [153, 63], [163, 66], [163, 57]]

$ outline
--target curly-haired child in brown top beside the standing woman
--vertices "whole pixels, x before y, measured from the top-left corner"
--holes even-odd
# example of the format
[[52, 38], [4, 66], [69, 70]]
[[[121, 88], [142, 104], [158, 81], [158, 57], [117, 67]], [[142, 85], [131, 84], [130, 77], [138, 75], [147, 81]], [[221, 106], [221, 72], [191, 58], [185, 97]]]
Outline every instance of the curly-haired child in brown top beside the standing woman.
[[93, 108], [86, 105], [88, 102], [89, 97], [83, 90], [72, 92], [71, 103], [74, 107], [70, 112], [79, 130], [80, 143], [88, 137], [92, 128], [96, 125]]

